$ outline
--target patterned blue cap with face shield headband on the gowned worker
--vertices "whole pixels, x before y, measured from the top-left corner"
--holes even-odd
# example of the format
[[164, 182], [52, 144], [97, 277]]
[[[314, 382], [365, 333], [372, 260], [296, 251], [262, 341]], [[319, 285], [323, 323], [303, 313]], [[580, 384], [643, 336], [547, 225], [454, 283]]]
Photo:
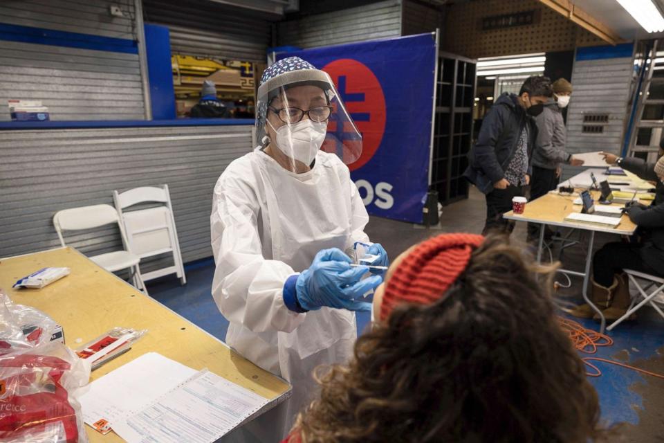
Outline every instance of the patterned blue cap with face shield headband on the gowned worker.
[[256, 130], [258, 142], [261, 145], [264, 145], [265, 120], [270, 100], [282, 88], [297, 83], [315, 84], [328, 92], [329, 99], [333, 95], [330, 91], [333, 84], [329, 75], [299, 57], [284, 58], [268, 66], [261, 76], [257, 97]]

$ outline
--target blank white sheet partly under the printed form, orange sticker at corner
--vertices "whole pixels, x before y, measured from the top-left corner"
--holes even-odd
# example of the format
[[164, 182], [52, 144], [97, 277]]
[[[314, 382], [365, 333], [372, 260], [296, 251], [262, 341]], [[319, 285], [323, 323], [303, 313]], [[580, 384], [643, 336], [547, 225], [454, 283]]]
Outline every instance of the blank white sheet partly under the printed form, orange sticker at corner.
[[79, 397], [83, 420], [94, 426], [100, 419], [115, 422], [133, 410], [140, 410], [197, 371], [156, 352], [148, 352], [90, 383]]

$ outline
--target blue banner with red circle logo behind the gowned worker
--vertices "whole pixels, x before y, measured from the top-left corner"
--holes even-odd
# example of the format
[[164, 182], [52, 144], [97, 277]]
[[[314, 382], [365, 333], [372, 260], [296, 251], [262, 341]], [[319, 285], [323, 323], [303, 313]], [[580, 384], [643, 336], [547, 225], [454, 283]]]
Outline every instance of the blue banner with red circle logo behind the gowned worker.
[[371, 215], [422, 223], [430, 159], [436, 43], [423, 34], [277, 54], [326, 71], [362, 133], [349, 165]]

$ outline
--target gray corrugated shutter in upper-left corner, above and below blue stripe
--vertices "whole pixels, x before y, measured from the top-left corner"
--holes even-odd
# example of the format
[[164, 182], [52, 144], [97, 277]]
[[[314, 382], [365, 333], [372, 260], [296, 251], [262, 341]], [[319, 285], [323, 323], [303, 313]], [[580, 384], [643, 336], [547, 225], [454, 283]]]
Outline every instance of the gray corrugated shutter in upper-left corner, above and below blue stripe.
[[[125, 17], [111, 17], [120, 5]], [[133, 1], [5, 0], [0, 23], [136, 39]], [[42, 100], [51, 120], [142, 120], [138, 54], [0, 41], [0, 120], [9, 98]]]

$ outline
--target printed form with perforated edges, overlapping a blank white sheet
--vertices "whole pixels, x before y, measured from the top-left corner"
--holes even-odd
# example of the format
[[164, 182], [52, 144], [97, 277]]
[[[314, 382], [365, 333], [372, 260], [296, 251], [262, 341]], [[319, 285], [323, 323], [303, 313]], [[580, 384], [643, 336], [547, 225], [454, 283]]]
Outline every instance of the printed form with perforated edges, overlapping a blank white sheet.
[[127, 443], [212, 443], [269, 403], [203, 370], [156, 403], [113, 424]]

